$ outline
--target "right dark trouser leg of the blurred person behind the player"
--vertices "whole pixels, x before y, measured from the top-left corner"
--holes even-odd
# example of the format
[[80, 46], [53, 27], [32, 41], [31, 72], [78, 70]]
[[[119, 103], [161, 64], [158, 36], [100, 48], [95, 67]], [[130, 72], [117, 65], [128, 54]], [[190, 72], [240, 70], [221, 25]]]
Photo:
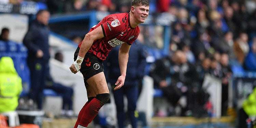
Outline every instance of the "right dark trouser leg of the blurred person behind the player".
[[131, 121], [132, 128], [137, 128], [137, 117], [136, 114], [136, 104], [138, 99], [138, 85], [128, 85], [125, 89], [125, 94], [128, 100], [128, 116]]

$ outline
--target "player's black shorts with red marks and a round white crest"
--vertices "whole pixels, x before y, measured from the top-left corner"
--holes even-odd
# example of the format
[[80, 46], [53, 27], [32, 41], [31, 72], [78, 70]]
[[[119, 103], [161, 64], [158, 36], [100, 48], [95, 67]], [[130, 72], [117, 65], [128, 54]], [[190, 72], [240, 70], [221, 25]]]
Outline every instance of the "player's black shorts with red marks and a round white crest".
[[[74, 61], [76, 60], [78, 53], [79, 53], [79, 47], [77, 47], [75, 54], [74, 54]], [[100, 72], [103, 72], [103, 63], [102, 60], [96, 57], [94, 54], [86, 53], [84, 60], [81, 64], [80, 72], [84, 76], [84, 82], [85, 85], [87, 85], [86, 81], [91, 77], [94, 76]]]

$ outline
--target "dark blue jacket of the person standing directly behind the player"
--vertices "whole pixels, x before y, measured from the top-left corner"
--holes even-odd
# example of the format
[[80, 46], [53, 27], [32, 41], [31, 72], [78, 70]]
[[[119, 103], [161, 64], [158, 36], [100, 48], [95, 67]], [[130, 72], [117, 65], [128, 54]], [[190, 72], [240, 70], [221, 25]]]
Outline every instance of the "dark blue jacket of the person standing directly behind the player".
[[[105, 61], [106, 78], [112, 85], [116, 83], [120, 76], [120, 69], [118, 64], [118, 51], [120, 46], [111, 50], [108, 58]], [[131, 45], [129, 51], [129, 60], [127, 64], [126, 78], [124, 85], [135, 85], [138, 80], [144, 76], [146, 66], [146, 54], [143, 45], [138, 41]]]

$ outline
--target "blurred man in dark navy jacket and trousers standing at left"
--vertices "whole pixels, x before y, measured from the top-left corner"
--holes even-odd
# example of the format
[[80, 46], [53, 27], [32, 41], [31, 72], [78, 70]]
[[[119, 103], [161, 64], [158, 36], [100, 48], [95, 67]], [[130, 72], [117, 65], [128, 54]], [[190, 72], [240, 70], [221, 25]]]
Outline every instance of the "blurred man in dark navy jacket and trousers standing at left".
[[26, 33], [23, 43], [28, 48], [27, 63], [31, 74], [30, 98], [37, 102], [38, 109], [42, 109], [42, 90], [45, 85], [45, 74], [50, 58], [49, 29], [47, 27], [50, 13], [40, 10]]

